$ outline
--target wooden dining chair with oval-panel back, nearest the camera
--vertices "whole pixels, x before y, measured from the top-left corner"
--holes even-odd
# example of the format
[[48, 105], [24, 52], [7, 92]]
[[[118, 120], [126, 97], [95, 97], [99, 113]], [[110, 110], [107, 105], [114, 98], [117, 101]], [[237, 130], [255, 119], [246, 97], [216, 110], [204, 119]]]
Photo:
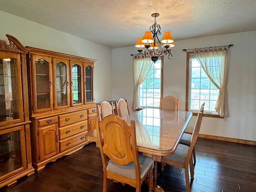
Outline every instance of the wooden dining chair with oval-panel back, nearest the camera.
[[96, 118], [96, 128], [103, 164], [103, 192], [108, 191], [108, 179], [129, 184], [140, 192], [147, 175], [149, 192], [152, 192], [154, 161], [138, 154], [135, 121], [129, 125], [124, 119], [111, 114], [102, 121]]

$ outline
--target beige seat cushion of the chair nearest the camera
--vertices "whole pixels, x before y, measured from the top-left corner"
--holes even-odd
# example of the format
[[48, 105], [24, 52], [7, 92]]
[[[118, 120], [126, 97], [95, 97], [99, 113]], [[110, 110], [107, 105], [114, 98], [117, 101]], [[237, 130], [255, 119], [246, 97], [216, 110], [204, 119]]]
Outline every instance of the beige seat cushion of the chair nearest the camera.
[[[146, 157], [143, 155], [138, 155], [139, 164], [140, 164], [140, 178], [145, 176], [146, 172], [150, 168], [150, 166], [154, 163], [151, 157]], [[118, 165], [114, 163], [112, 160], [108, 162], [108, 166], [106, 168], [108, 172], [112, 172], [124, 177], [128, 177], [130, 179], [136, 179], [134, 162], [130, 162], [126, 165]]]

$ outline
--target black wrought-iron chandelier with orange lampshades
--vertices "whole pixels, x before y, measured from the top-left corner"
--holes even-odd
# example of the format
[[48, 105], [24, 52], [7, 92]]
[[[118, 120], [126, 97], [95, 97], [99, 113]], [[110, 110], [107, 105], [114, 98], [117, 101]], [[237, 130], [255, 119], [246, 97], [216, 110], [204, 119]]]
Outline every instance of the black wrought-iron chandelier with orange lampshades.
[[[151, 57], [151, 60], [155, 63], [159, 57], [166, 55], [168, 59], [172, 58], [171, 47], [174, 47], [174, 41], [172, 39], [172, 34], [170, 31], [166, 31], [160, 42], [158, 35], [161, 35], [161, 27], [156, 23], [156, 17], [159, 16], [158, 13], [153, 13], [151, 15], [155, 18], [154, 24], [150, 27], [150, 31], [146, 31], [143, 38], [139, 37], [135, 47], [138, 47], [138, 54], [136, 59], [144, 57]], [[145, 48], [144, 50], [142, 48]]]

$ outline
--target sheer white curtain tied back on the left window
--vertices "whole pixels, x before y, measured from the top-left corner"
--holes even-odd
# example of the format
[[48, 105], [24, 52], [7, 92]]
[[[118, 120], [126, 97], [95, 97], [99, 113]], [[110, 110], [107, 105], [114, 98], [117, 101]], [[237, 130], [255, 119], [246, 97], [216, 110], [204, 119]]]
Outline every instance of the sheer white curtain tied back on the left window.
[[153, 61], [150, 57], [133, 59], [133, 68], [134, 68], [134, 90], [133, 90], [133, 101], [132, 109], [138, 109], [140, 106], [140, 90], [139, 86], [148, 76], [148, 73], [152, 67]]

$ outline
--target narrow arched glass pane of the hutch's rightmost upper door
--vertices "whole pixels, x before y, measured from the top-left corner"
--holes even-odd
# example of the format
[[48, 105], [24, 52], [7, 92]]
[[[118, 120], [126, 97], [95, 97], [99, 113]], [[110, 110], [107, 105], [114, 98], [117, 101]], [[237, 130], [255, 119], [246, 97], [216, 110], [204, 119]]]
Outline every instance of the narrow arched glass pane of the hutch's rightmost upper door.
[[93, 91], [92, 91], [92, 66], [85, 67], [85, 92], [86, 92], [86, 102], [93, 101]]

